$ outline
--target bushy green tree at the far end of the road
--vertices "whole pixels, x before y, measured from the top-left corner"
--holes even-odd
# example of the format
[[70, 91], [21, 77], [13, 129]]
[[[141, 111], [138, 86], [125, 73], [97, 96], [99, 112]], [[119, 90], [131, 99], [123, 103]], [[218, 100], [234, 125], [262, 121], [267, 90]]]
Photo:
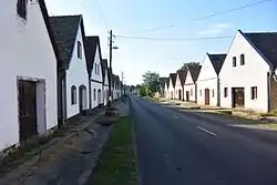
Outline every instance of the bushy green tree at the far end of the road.
[[143, 85], [146, 88], [146, 93], [153, 96], [155, 92], [160, 91], [160, 74], [156, 72], [146, 72], [143, 74]]

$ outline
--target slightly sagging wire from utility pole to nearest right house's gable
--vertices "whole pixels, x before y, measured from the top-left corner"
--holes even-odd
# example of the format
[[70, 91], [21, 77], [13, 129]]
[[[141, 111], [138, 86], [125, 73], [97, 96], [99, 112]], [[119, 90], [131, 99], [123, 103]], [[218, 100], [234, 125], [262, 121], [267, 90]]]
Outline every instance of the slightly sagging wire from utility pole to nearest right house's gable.
[[233, 37], [223, 35], [223, 37], [211, 37], [211, 38], [143, 38], [143, 37], [116, 35], [116, 38], [134, 39], [134, 40], [151, 40], [151, 41], [197, 41], [197, 40], [229, 39]]

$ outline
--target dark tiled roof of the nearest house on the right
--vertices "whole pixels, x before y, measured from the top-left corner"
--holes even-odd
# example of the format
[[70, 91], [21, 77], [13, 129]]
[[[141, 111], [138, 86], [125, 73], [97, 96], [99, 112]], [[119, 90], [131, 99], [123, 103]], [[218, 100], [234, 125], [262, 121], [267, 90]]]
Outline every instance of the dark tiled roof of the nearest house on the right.
[[[240, 30], [239, 30], [240, 31]], [[277, 66], [277, 32], [243, 33], [273, 68]]]

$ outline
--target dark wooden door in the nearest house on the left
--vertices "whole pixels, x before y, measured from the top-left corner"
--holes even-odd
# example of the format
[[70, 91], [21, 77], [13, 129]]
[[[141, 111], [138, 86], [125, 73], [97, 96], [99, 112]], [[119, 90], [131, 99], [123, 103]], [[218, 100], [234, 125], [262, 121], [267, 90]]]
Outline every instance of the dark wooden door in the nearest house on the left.
[[35, 82], [19, 80], [20, 141], [38, 134]]

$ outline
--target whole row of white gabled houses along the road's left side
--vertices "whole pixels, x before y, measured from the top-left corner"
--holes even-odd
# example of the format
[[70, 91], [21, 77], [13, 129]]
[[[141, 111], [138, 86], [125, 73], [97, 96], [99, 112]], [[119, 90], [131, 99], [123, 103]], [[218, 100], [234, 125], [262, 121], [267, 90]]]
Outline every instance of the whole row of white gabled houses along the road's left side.
[[44, 0], [0, 8], [0, 151], [122, 96], [123, 83], [82, 16], [49, 17]]

